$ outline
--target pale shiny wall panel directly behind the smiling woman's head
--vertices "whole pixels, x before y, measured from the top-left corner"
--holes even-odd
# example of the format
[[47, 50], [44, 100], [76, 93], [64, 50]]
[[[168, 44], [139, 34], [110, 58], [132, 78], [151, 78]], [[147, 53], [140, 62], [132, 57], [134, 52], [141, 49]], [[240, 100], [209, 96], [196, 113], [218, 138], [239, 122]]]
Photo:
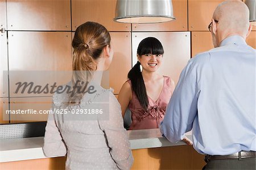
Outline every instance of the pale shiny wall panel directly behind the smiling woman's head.
[[149, 35], [159, 39], [164, 48], [162, 65], [158, 72], [170, 76], [176, 85], [182, 69], [191, 57], [190, 32], [134, 32], [133, 65], [137, 63], [139, 42]]

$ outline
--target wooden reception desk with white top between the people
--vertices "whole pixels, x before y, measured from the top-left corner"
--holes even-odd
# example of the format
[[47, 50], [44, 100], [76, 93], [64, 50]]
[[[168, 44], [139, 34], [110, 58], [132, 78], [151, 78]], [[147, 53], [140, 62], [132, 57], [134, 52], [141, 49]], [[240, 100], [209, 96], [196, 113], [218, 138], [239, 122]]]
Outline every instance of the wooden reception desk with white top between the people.
[[[159, 129], [127, 131], [132, 169], [201, 169], [203, 155], [184, 142], [171, 143]], [[191, 139], [191, 134], [187, 134]], [[0, 140], [1, 169], [65, 169], [66, 157], [46, 157], [43, 137]]]

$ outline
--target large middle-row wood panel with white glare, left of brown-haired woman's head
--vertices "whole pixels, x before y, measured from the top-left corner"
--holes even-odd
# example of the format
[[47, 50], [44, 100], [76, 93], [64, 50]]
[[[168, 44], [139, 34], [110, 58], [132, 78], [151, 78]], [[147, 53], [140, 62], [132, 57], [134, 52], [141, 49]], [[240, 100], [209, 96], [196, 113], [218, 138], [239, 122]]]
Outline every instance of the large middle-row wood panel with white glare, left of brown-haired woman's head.
[[[9, 31], [9, 70], [10, 97], [32, 95], [14, 94], [16, 82], [34, 82], [43, 87], [47, 83], [52, 85], [52, 82], [59, 82], [55, 81], [56, 78], [62, 78], [63, 83], [67, 82], [64, 80], [70, 80], [70, 77], [61, 71], [72, 71], [71, 32]], [[54, 76], [58, 73], [64, 75]], [[41, 93], [34, 94], [34, 97], [49, 95]]]

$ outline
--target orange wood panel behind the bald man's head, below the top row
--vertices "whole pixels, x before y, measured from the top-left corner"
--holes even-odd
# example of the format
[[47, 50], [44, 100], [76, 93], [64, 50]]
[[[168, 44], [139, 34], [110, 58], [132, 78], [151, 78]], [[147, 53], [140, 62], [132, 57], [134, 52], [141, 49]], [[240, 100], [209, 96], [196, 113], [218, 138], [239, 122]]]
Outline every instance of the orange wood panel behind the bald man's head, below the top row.
[[[208, 51], [213, 47], [212, 35], [210, 32], [192, 32], [192, 56], [197, 53]], [[256, 48], [256, 31], [251, 31], [246, 39], [246, 43]]]

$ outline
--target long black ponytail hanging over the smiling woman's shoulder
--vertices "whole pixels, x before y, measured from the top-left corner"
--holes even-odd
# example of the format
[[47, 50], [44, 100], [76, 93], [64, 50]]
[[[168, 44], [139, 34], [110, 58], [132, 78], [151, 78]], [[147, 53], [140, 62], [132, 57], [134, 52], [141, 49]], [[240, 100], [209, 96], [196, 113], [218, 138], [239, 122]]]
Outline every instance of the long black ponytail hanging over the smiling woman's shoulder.
[[144, 84], [141, 69], [139, 68], [140, 65], [141, 63], [139, 63], [138, 61], [128, 73], [128, 78], [131, 80], [133, 91], [138, 97], [139, 103], [141, 103], [141, 106], [143, 107], [144, 110], [147, 110], [147, 107], [148, 107], [147, 90]]

